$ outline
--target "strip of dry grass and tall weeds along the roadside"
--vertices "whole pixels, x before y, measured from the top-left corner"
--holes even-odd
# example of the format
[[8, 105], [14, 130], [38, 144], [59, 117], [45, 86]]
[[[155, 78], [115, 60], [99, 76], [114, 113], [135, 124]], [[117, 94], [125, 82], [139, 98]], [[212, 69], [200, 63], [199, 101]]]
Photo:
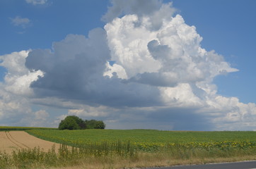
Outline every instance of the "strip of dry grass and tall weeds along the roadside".
[[11, 155], [0, 152], [0, 168], [146, 168], [256, 159], [255, 148], [209, 151], [173, 146], [153, 153], [134, 148], [129, 142], [119, 141], [116, 145], [102, 142], [81, 148], [62, 145], [58, 151], [53, 147], [48, 152], [40, 151], [39, 147], [13, 151]]

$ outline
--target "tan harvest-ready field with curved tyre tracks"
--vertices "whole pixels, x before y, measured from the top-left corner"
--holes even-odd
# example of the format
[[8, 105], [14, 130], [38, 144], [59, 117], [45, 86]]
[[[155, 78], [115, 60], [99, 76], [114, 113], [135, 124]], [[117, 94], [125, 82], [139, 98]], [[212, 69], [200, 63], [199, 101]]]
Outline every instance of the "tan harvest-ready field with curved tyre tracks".
[[58, 149], [59, 144], [38, 139], [27, 132], [0, 132], [0, 151], [6, 151], [6, 153], [11, 153], [13, 150], [18, 149], [33, 149], [37, 146], [40, 146], [40, 149], [43, 149], [44, 151], [48, 151], [49, 149], [52, 149], [54, 144]]

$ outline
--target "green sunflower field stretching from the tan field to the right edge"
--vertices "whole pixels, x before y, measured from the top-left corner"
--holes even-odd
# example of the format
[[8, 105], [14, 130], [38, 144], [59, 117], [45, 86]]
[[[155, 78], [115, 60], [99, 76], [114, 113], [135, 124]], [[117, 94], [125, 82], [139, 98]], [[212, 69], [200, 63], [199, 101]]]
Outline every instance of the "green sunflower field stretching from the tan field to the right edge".
[[166, 146], [202, 149], [252, 148], [256, 132], [178, 132], [159, 130], [29, 130], [30, 134], [52, 142], [81, 146], [102, 142], [130, 142], [139, 150], [151, 151]]

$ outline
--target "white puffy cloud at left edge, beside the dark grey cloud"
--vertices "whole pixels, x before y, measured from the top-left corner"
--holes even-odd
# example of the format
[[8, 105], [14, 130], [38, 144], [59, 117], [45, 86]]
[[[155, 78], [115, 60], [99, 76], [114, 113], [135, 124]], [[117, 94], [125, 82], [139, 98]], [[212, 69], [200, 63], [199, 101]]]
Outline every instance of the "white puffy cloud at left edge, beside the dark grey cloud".
[[[29, 51], [20, 51], [0, 56], [0, 66], [7, 70], [4, 82], [0, 82], [0, 125], [31, 126], [35, 122], [35, 118], [31, 117], [39, 117], [31, 109], [30, 97], [33, 96], [33, 89], [30, 84], [42, 77], [43, 73], [41, 70], [30, 71], [25, 67], [28, 53]], [[46, 123], [41, 125], [45, 126]]]

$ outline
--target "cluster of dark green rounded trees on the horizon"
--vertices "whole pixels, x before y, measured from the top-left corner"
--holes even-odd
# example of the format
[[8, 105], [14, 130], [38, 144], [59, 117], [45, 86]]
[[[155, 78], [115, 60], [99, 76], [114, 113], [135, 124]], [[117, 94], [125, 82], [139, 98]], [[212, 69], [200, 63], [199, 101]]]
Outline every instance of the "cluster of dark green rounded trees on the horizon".
[[83, 120], [69, 115], [59, 123], [59, 130], [105, 129], [105, 126], [102, 120]]

